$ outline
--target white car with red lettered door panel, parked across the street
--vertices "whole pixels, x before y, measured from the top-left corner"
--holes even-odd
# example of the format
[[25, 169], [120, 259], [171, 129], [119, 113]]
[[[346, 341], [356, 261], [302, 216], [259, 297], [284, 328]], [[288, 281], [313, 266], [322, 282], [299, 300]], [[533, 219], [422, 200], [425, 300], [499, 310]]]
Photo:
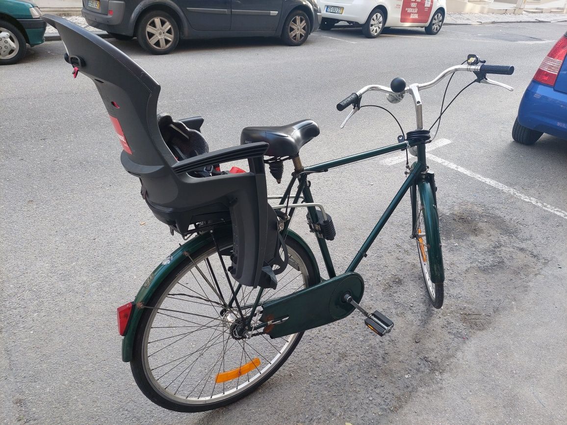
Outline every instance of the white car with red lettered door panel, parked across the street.
[[317, 0], [323, 18], [320, 29], [328, 31], [338, 22], [362, 25], [369, 39], [387, 27], [422, 27], [434, 35], [445, 20], [446, 0]]

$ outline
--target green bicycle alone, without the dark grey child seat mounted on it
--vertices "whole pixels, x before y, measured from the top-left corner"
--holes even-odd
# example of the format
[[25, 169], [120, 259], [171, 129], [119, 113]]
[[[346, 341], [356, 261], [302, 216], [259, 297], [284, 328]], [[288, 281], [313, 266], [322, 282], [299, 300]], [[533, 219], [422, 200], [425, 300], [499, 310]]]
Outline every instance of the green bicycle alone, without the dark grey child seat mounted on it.
[[[216, 409], [235, 402], [282, 366], [304, 330], [340, 320], [354, 309], [365, 316], [365, 324], [375, 333], [382, 336], [390, 332], [393, 322], [388, 317], [379, 311], [367, 312], [359, 305], [364, 283], [356, 269], [408, 190], [411, 237], [416, 241], [431, 304], [441, 308], [445, 273], [435, 178], [426, 160], [425, 145], [430, 142], [430, 135], [423, 128], [420, 91], [456, 71], [471, 71], [477, 76], [475, 82], [511, 90], [487, 79], [486, 74], [511, 75], [513, 67], [479, 64], [478, 58], [471, 56], [467, 65], [450, 67], [428, 83], [406, 86], [403, 79], [397, 78], [390, 88], [366, 86], [337, 105], [340, 111], [353, 105], [344, 126], [359, 111], [362, 95], [368, 91], [384, 92], [392, 103], [411, 95], [417, 129], [401, 137], [399, 143], [304, 167], [299, 157], [304, 141], [298, 141], [297, 152], [289, 155], [294, 164], [291, 181], [283, 196], [269, 197], [279, 199], [274, 209], [278, 211], [290, 265], [278, 278], [276, 289], [252, 288], [232, 281], [225, 265], [231, 255], [230, 226], [203, 228], [158, 266], [132, 304], [138, 307], [132, 317], [130, 311], [125, 315], [129, 323], [122, 345], [123, 360], [130, 362], [139, 388], [150, 400], [167, 409], [186, 412]], [[307, 121], [295, 125], [303, 129], [310, 126]], [[264, 133], [277, 133], [277, 129], [280, 133], [285, 130], [260, 128]], [[251, 138], [260, 130], [245, 129], [243, 137]], [[335, 237], [335, 228], [324, 207], [315, 203], [308, 177], [396, 151], [409, 151], [417, 157], [416, 161], [407, 165], [407, 179], [349, 266], [337, 274], [327, 245]], [[281, 179], [278, 167], [281, 164], [270, 164], [270, 171]], [[321, 278], [310, 247], [289, 228], [298, 208], [307, 209], [307, 222], [317, 236], [327, 280]]]

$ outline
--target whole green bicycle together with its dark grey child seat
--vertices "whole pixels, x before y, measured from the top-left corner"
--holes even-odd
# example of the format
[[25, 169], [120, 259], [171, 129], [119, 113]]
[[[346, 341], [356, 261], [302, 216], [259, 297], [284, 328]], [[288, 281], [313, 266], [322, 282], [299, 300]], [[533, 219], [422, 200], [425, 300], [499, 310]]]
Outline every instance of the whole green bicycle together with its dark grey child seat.
[[[452, 66], [428, 83], [407, 86], [395, 78], [390, 88], [366, 86], [337, 105], [339, 111], [353, 106], [341, 127], [370, 106], [361, 105], [366, 92], [381, 91], [391, 103], [412, 96], [416, 130], [401, 130], [390, 146], [304, 167], [299, 150], [319, 134], [315, 122], [249, 127], [242, 131], [240, 146], [209, 151], [199, 131], [203, 118], [158, 116], [160, 86], [131, 58], [60, 16], [42, 19], [60, 33], [73, 76], [87, 76], [99, 91], [122, 146], [122, 166], [141, 182], [147, 206], [172, 235], [180, 233], [186, 240], [150, 274], [134, 301], [117, 309], [122, 360], [130, 363], [136, 383], [151, 401], [185, 412], [229, 405], [268, 380], [305, 330], [341, 320], [355, 309], [376, 334], [389, 333], [390, 318], [361, 307], [364, 281], [356, 269], [408, 191], [410, 236], [431, 304], [442, 307], [445, 272], [437, 186], [425, 150], [433, 126], [424, 129], [420, 91], [457, 71], [475, 74], [468, 86], [479, 82], [513, 90], [486, 74], [511, 75], [514, 67], [484, 65], [469, 55], [466, 65]], [[456, 96], [445, 109], [443, 96], [434, 125]], [[308, 179], [396, 151], [408, 154], [407, 178], [348, 267], [337, 274], [327, 245], [335, 239], [335, 226], [323, 205], [314, 201]], [[413, 164], [409, 154], [416, 157]], [[221, 171], [220, 164], [239, 159], [248, 159], [249, 172]], [[282, 196], [268, 196], [265, 164], [280, 182], [286, 160], [294, 165], [291, 180]], [[266, 198], [277, 199], [278, 205], [269, 206]], [[321, 277], [311, 248], [290, 229], [302, 208], [317, 236], [327, 279]]]

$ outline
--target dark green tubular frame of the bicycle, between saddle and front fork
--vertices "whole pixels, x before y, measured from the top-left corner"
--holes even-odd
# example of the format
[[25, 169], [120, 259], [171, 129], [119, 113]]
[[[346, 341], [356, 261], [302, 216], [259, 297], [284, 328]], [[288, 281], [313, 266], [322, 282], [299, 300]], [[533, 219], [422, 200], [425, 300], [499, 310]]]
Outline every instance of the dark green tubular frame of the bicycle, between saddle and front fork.
[[[344, 273], [355, 271], [358, 265], [360, 264], [360, 262], [362, 261], [362, 258], [366, 257], [367, 251], [373, 245], [374, 241], [376, 240], [376, 237], [378, 237], [380, 231], [382, 231], [382, 228], [387, 223], [388, 219], [390, 219], [390, 216], [392, 215], [393, 211], [395, 211], [401, 199], [405, 196], [405, 194], [413, 185], [417, 185], [419, 181], [425, 178], [428, 169], [425, 159], [425, 143], [426, 142], [424, 141], [407, 141], [404, 143], [396, 143], [395, 145], [388, 145], [388, 146], [376, 148], [370, 151], [361, 152], [359, 154], [354, 154], [350, 156], [345, 156], [344, 158], [334, 159], [328, 162], [311, 165], [310, 167], [305, 167], [305, 168], [301, 166], [301, 162], [299, 162], [299, 160], [294, 160], [296, 172], [294, 172], [293, 177], [289, 182], [289, 185], [287, 185], [284, 195], [280, 199], [280, 205], [285, 205], [287, 200], [290, 198], [291, 191], [293, 190], [296, 181], [298, 182], [298, 188], [293, 198], [293, 204], [297, 204], [301, 196], [303, 197], [303, 202], [305, 203], [314, 202], [313, 196], [311, 194], [310, 183], [308, 181], [308, 176], [311, 173], [327, 172], [329, 171], [329, 169], [341, 167], [342, 165], [352, 164], [361, 160], [374, 158], [380, 155], [390, 154], [396, 151], [404, 151], [407, 150], [408, 148], [416, 146], [417, 162], [413, 164], [412, 171], [409, 173], [407, 179], [405, 179], [404, 183], [401, 185], [400, 189], [397, 191], [397, 193], [393, 197], [390, 204], [387, 206], [382, 216], [380, 216], [373, 230], [370, 231], [370, 234], [367, 236], [366, 240], [362, 244], [362, 247], [358, 250], [353, 260], [350, 262], [349, 266], [346, 267]], [[298, 169], [299, 171], [297, 171]], [[289, 228], [289, 224], [291, 222], [291, 218], [293, 217], [295, 209], [296, 207], [290, 207], [288, 213], [290, 219], [287, 220], [285, 224], [283, 231], [284, 237]], [[310, 215], [311, 221], [317, 222], [318, 215], [315, 206], [307, 207], [307, 211], [308, 214]], [[412, 227], [413, 226], [414, 223], [412, 223]], [[329, 275], [329, 278], [336, 277], [337, 274], [335, 271], [335, 266], [333, 265], [331, 254], [329, 253], [327, 241], [322, 237], [318, 237], [317, 241], [319, 244], [321, 256], [323, 256], [325, 267], [327, 268], [327, 273]]]

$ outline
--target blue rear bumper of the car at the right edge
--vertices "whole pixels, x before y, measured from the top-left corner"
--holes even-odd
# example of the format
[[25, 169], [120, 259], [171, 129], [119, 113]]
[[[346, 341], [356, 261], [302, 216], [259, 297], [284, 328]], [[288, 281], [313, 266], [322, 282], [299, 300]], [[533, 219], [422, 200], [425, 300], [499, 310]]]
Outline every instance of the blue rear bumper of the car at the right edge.
[[567, 94], [532, 81], [520, 102], [518, 122], [528, 129], [567, 139]]

